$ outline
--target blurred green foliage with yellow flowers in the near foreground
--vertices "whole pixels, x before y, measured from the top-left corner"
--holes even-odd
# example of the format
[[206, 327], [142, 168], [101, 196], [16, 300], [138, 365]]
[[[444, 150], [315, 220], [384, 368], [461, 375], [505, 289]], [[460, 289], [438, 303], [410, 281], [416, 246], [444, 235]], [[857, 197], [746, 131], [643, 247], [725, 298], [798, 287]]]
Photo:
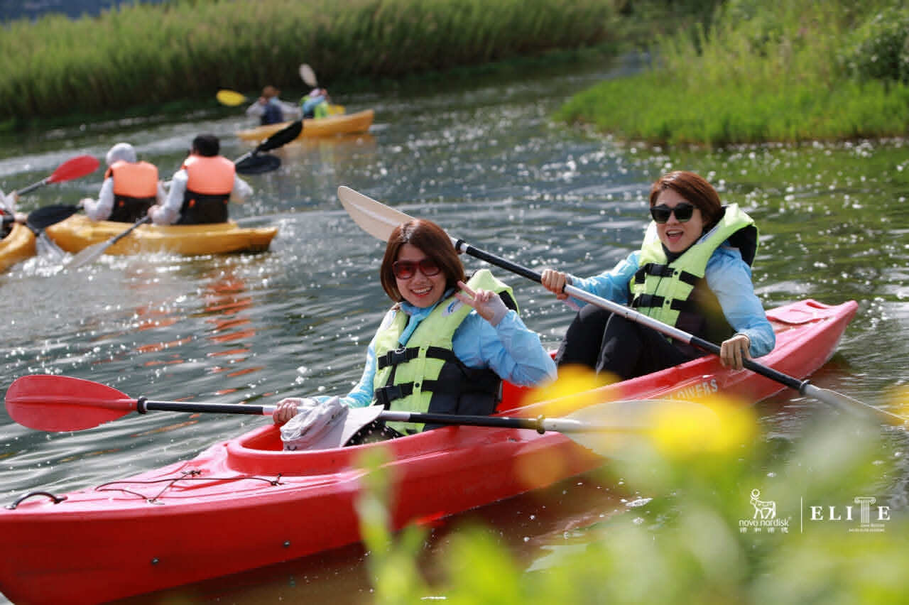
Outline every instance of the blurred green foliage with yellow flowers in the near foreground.
[[[909, 526], [898, 507], [904, 501], [904, 464], [888, 439], [904, 435], [888, 436], [876, 424], [822, 408], [803, 437], [782, 441], [742, 431], [749, 422], [754, 426], [749, 417], [733, 421], [739, 429], [719, 440], [714, 434], [713, 440], [700, 436], [687, 447], [684, 441], [674, 447], [656, 443], [626, 452], [626, 461], [609, 461], [599, 479], [617, 485], [621, 478], [634, 491], [629, 500], [636, 505], [566, 531], [529, 565], [493, 531], [476, 526], [450, 534], [445, 549], [434, 553], [435, 566], [420, 561], [424, 532], [387, 531], [383, 483], [374, 479], [373, 492], [359, 507], [370, 548], [373, 602], [902, 602], [909, 572]], [[708, 447], [696, 447], [704, 443]], [[758, 500], [776, 507], [768, 517], [774, 522], [760, 531], [751, 503], [755, 490]], [[859, 497], [875, 499], [867, 522], [860, 517]], [[430, 579], [425, 570], [433, 567], [442, 571]]]

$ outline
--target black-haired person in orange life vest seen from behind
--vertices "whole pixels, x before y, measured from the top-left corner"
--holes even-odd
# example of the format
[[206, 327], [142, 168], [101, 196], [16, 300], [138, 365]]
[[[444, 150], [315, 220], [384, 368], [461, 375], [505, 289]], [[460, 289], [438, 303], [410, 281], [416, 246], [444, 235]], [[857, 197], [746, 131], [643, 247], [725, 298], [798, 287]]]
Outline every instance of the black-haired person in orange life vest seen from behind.
[[174, 177], [163, 205], [149, 209], [155, 224], [226, 223], [227, 203], [242, 203], [253, 188], [236, 174], [233, 162], [221, 153], [214, 134], [193, 139], [189, 155]]

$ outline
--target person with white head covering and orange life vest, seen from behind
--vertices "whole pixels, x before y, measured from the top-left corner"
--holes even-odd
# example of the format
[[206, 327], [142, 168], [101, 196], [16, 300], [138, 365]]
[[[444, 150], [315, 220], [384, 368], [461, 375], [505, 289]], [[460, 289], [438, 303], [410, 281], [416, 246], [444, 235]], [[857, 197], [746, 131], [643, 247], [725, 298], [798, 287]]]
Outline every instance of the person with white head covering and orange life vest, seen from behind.
[[135, 223], [153, 205], [165, 202], [167, 193], [157, 167], [138, 161], [133, 145], [115, 144], [105, 160], [107, 172], [98, 199], [86, 197], [79, 202], [89, 219]]

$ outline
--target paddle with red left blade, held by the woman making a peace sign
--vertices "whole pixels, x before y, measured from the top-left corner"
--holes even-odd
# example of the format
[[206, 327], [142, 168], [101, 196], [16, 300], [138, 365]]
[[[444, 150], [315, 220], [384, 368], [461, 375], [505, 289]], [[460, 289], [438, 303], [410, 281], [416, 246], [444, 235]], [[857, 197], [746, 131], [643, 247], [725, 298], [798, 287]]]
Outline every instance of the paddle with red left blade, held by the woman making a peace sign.
[[[38, 431], [82, 431], [115, 421], [129, 412], [190, 412], [253, 414], [271, 416], [275, 405], [236, 403], [153, 402], [132, 398], [99, 382], [81, 378], [31, 374], [17, 378], [6, 391], [6, 412], [19, 424]], [[522, 418], [516, 416], [471, 416], [419, 412], [391, 412], [381, 406], [356, 408], [360, 426], [375, 420], [416, 422], [454, 426], [482, 426], [505, 429], [530, 429], [538, 432], [567, 433], [584, 447], [598, 451], [603, 440], [585, 438], [584, 433], [604, 431], [640, 432], [653, 429], [667, 419], [696, 419], [699, 423], [718, 422], [716, 414], [700, 403], [681, 400], [629, 400], [601, 402], [572, 412], [563, 418]], [[678, 414], [677, 416], [675, 414]], [[345, 431], [358, 427], [345, 427]], [[614, 449], [610, 449], [613, 452]]]

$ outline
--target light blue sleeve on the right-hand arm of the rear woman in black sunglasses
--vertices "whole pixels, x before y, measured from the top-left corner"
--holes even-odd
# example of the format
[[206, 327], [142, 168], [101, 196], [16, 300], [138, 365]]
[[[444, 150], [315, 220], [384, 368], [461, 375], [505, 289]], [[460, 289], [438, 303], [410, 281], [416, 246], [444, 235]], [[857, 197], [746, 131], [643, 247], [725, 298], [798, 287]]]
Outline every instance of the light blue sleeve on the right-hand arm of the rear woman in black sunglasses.
[[[707, 286], [714, 292], [726, 321], [737, 334], [751, 341], [748, 352], [761, 357], [774, 350], [776, 335], [767, 320], [764, 305], [754, 293], [751, 267], [742, 260], [737, 248], [717, 248], [704, 272]], [[719, 343], [717, 343], [719, 344]]]

